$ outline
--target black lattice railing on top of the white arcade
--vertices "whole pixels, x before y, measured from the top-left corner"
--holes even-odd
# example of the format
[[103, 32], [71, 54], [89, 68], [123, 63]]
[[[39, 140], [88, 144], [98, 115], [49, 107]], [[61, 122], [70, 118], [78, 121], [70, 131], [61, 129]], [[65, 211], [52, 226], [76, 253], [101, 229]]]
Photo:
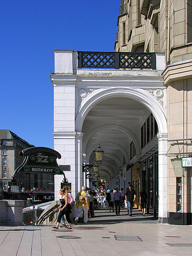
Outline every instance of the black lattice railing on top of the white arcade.
[[147, 68], [156, 70], [155, 53], [78, 52], [78, 68]]

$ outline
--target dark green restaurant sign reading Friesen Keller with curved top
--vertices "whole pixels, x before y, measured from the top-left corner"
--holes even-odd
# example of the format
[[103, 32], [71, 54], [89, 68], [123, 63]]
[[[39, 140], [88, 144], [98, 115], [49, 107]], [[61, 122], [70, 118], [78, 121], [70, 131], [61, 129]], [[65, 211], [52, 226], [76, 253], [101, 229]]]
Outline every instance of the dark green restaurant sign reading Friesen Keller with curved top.
[[[23, 163], [15, 170], [23, 173], [48, 173], [48, 174], [62, 174], [64, 172], [57, 164], [57, 158], [61, 155], [48, 147], [29, 147], [21, 151], [21, 155], [25, 156]], [[15, 175], [14, 173], [14, 175]]]

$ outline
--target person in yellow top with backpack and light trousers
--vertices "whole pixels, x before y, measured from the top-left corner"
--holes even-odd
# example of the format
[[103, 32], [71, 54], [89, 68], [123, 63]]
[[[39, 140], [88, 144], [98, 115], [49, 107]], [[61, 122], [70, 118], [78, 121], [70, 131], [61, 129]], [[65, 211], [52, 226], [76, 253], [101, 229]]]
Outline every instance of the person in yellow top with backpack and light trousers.
[[79, 215], [84, 211], [84, 224], [87, 223], [88, 220], [88, 210], [89, 210], [89, 198], [86, 192], [86, 187], [82, 186], [82, 191], [77, 193], [76, 198], [76, 208], [78, 208], [76, 217], [75, 217], [75, 224], [77, 224]]

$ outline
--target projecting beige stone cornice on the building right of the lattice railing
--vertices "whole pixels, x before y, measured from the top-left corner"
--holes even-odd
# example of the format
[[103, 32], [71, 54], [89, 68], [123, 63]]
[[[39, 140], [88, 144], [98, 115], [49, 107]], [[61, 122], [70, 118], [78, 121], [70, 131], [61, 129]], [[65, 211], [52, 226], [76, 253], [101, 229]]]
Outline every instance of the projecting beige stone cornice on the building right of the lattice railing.
[[168, 65], [162, 75], [165, 85], [173, 81], [192, 78], [192, 60]]

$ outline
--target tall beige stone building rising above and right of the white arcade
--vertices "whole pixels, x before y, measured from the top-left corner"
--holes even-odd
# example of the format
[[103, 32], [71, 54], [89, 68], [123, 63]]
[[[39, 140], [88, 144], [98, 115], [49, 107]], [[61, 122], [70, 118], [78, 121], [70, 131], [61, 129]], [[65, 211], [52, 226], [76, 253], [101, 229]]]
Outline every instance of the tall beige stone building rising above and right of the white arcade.
[[192, 1], [122, 0], [117, 26], [116, 52], [165, 54], [168, 223], [191, 224]]

